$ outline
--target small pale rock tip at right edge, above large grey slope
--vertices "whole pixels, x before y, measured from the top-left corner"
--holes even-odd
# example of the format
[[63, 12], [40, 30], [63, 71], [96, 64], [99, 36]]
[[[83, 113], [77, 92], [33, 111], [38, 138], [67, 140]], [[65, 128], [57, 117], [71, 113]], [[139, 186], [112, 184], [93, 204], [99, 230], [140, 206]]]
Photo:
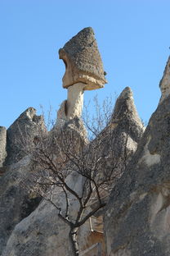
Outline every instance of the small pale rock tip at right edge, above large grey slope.
[[168, 62], [165, 66], [163, 78], [160, 80], [159, 87], [162, 93], [159, 103], [162, 103], [163, 99], [167, 98], [170, 94], [170, 56], [168, 57]]

